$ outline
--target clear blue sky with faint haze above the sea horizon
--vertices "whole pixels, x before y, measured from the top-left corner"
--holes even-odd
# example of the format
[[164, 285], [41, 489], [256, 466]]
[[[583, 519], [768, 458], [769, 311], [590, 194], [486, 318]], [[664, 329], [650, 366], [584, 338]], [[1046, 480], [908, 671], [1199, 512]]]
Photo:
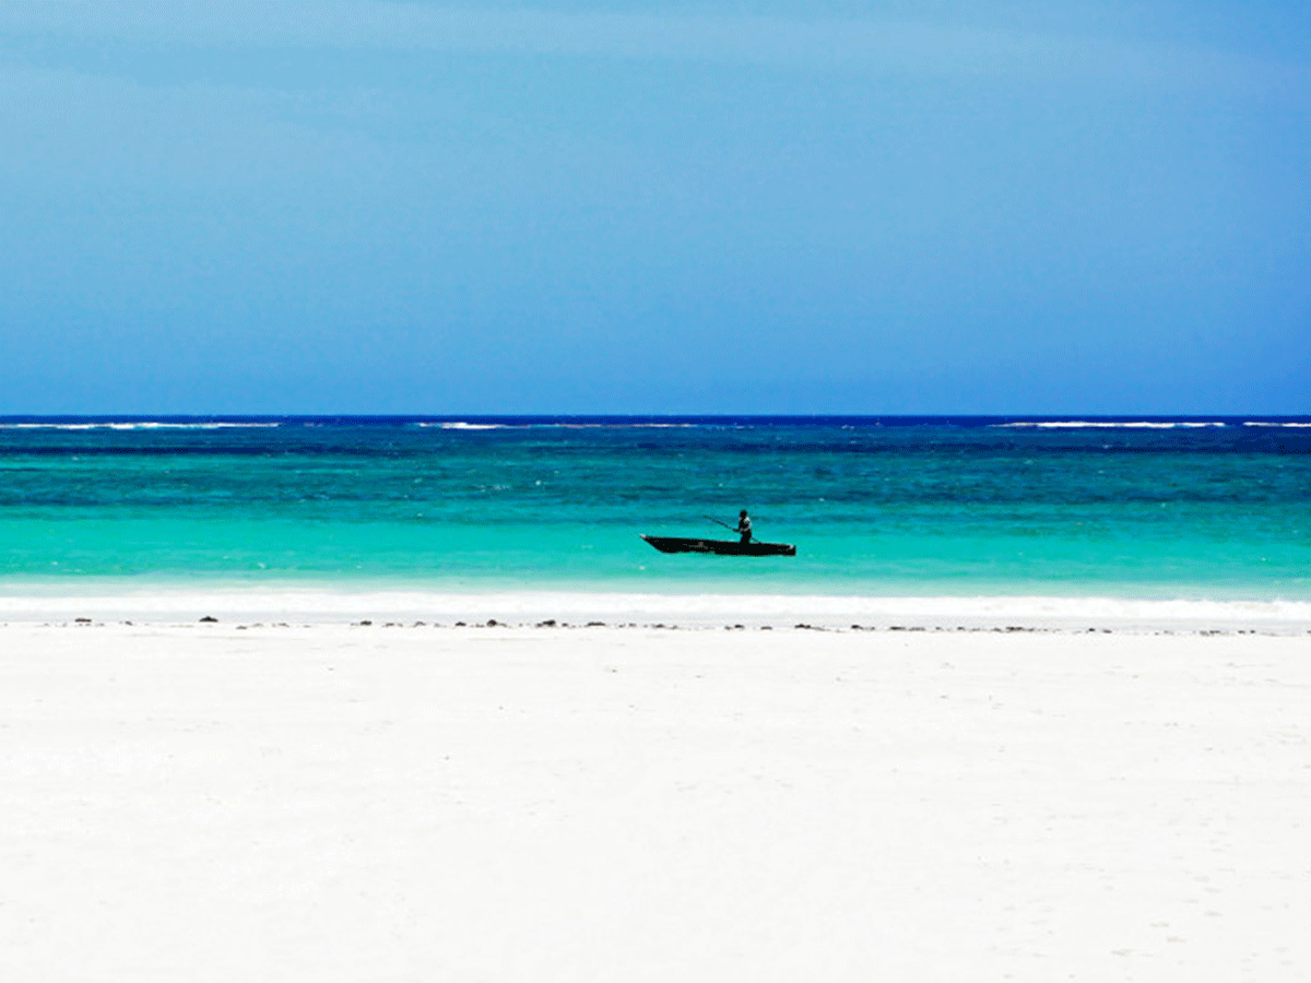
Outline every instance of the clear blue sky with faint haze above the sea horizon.
[[0, 414], [1311, 414], [1311, 4], [0, 3]]

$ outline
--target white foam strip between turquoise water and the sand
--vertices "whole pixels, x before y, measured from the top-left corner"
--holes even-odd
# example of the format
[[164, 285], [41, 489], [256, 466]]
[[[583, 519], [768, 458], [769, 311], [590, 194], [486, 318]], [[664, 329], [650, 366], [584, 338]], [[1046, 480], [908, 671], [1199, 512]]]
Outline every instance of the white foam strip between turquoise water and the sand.
[[417, 590], [140, 590], [10, 594], [0, 621], [132, 620], [343, 624], [399, 620], [454, 624], [545, 620], [705, 628], [793, 626], [1311, 632], [1311, 603], [1294, 600], [1141, 600], [1054, 596], [827, 596]]

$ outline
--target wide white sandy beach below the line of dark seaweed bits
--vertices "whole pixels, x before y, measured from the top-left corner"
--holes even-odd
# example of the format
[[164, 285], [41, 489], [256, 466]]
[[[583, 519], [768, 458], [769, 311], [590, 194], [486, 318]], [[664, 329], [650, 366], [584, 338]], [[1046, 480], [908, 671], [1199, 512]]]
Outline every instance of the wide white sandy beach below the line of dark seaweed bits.
[[12, 980], [1304, 980], [1311, 636], [18, 620], [0, 817]]

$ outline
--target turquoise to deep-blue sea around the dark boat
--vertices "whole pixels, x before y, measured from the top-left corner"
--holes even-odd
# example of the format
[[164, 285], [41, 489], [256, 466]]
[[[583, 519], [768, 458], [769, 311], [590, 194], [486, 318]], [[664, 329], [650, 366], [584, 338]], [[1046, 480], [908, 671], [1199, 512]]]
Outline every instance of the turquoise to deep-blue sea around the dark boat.
[[[1307, 423], [10, 418], [0, 588], [1311, 599]], [[741, 507], [798, 554], [637, 539], [728, 537], [703, 516]]]

